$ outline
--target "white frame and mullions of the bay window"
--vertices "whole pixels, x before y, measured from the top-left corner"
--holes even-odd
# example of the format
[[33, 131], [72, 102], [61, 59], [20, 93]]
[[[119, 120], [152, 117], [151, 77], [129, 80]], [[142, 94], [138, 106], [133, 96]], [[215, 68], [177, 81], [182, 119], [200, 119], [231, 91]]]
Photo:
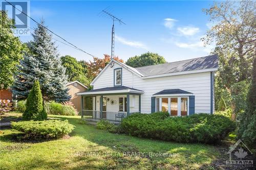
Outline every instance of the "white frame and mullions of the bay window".
[[[162, 96], [162, 97], [157, 97], [159, 99], [159, 111], [162, 111], [162, 98], [168, 98], [168, 113], [170, 115], [170, 98], [178, 98], [178, 116], [181, 116], [181, 98], [187, 98], [187, 116], [189, 115], [189, 96]], [[156, 99], [157, 99], [156, 98]], [[157, 106], [157, 100], [156, 104]], [[155, 108], [155, 112], [157, 112], [157, 107]]]

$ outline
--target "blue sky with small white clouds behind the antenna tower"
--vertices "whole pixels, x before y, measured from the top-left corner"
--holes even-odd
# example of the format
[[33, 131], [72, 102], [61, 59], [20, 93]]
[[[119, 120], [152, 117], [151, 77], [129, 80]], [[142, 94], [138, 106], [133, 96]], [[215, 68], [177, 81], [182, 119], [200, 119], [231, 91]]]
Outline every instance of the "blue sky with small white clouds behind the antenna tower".
[[[206, 56], [213, 46], [204, 47], [209, 21], [202, 12], [211, 1], [30, 1], [31, 17], [44, 18], [50, 30], [84, 51], [102, 58], [111, 53], [112, 21], [99, 12], [110, 7], [126, 23], [115, 25], [115, 55], [126, 61], [147, 51], [168, 62]], [[30, 26], [35, 23], [30, 21]], [[54, 38], [57, 38], [54, 36]], [[31, 36], [21, 36], [24, 42]], [[92, 60], [82, 52], [56, 42], [60, 55]]]

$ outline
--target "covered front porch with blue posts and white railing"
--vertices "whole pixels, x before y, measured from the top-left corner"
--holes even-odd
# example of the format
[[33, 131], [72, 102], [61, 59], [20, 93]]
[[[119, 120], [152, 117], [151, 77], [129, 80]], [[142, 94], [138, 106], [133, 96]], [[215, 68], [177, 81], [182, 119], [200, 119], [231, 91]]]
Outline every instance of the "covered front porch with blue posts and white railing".
[[81, 117], [89, 121], [105, 119], [119, 124], [124, 117], [140, 113], [142, 93], [142, 90], [125, 86], [80, 92]]

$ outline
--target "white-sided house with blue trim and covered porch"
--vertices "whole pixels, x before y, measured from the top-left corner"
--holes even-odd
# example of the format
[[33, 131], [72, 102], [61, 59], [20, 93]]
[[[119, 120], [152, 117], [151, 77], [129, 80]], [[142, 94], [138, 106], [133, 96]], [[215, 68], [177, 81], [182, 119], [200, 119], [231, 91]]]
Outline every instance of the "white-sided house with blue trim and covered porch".
[[[216, 55], [138, 68], [112, 59], [91, 83], [93, 90], [78, 94], [93, 100], [91, 114], [93, 111], [114, 112], [113, 115], [156, 111], [178, 116], [213, 113], [217, 69]], [[83, 103], [85, 107], [86, 102]]]

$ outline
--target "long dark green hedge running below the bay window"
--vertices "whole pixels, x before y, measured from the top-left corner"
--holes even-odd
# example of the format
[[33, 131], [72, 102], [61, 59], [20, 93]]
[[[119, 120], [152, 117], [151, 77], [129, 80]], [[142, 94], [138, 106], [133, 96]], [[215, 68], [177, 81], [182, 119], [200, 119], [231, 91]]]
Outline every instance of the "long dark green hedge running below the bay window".
[[222, 115], [194, 114], [186, 117], [169, 117], [168, 113], [136, 113], [121, 122], [124, 133], [177, 142], [215, 143], [232, 132], [235, 125]]

